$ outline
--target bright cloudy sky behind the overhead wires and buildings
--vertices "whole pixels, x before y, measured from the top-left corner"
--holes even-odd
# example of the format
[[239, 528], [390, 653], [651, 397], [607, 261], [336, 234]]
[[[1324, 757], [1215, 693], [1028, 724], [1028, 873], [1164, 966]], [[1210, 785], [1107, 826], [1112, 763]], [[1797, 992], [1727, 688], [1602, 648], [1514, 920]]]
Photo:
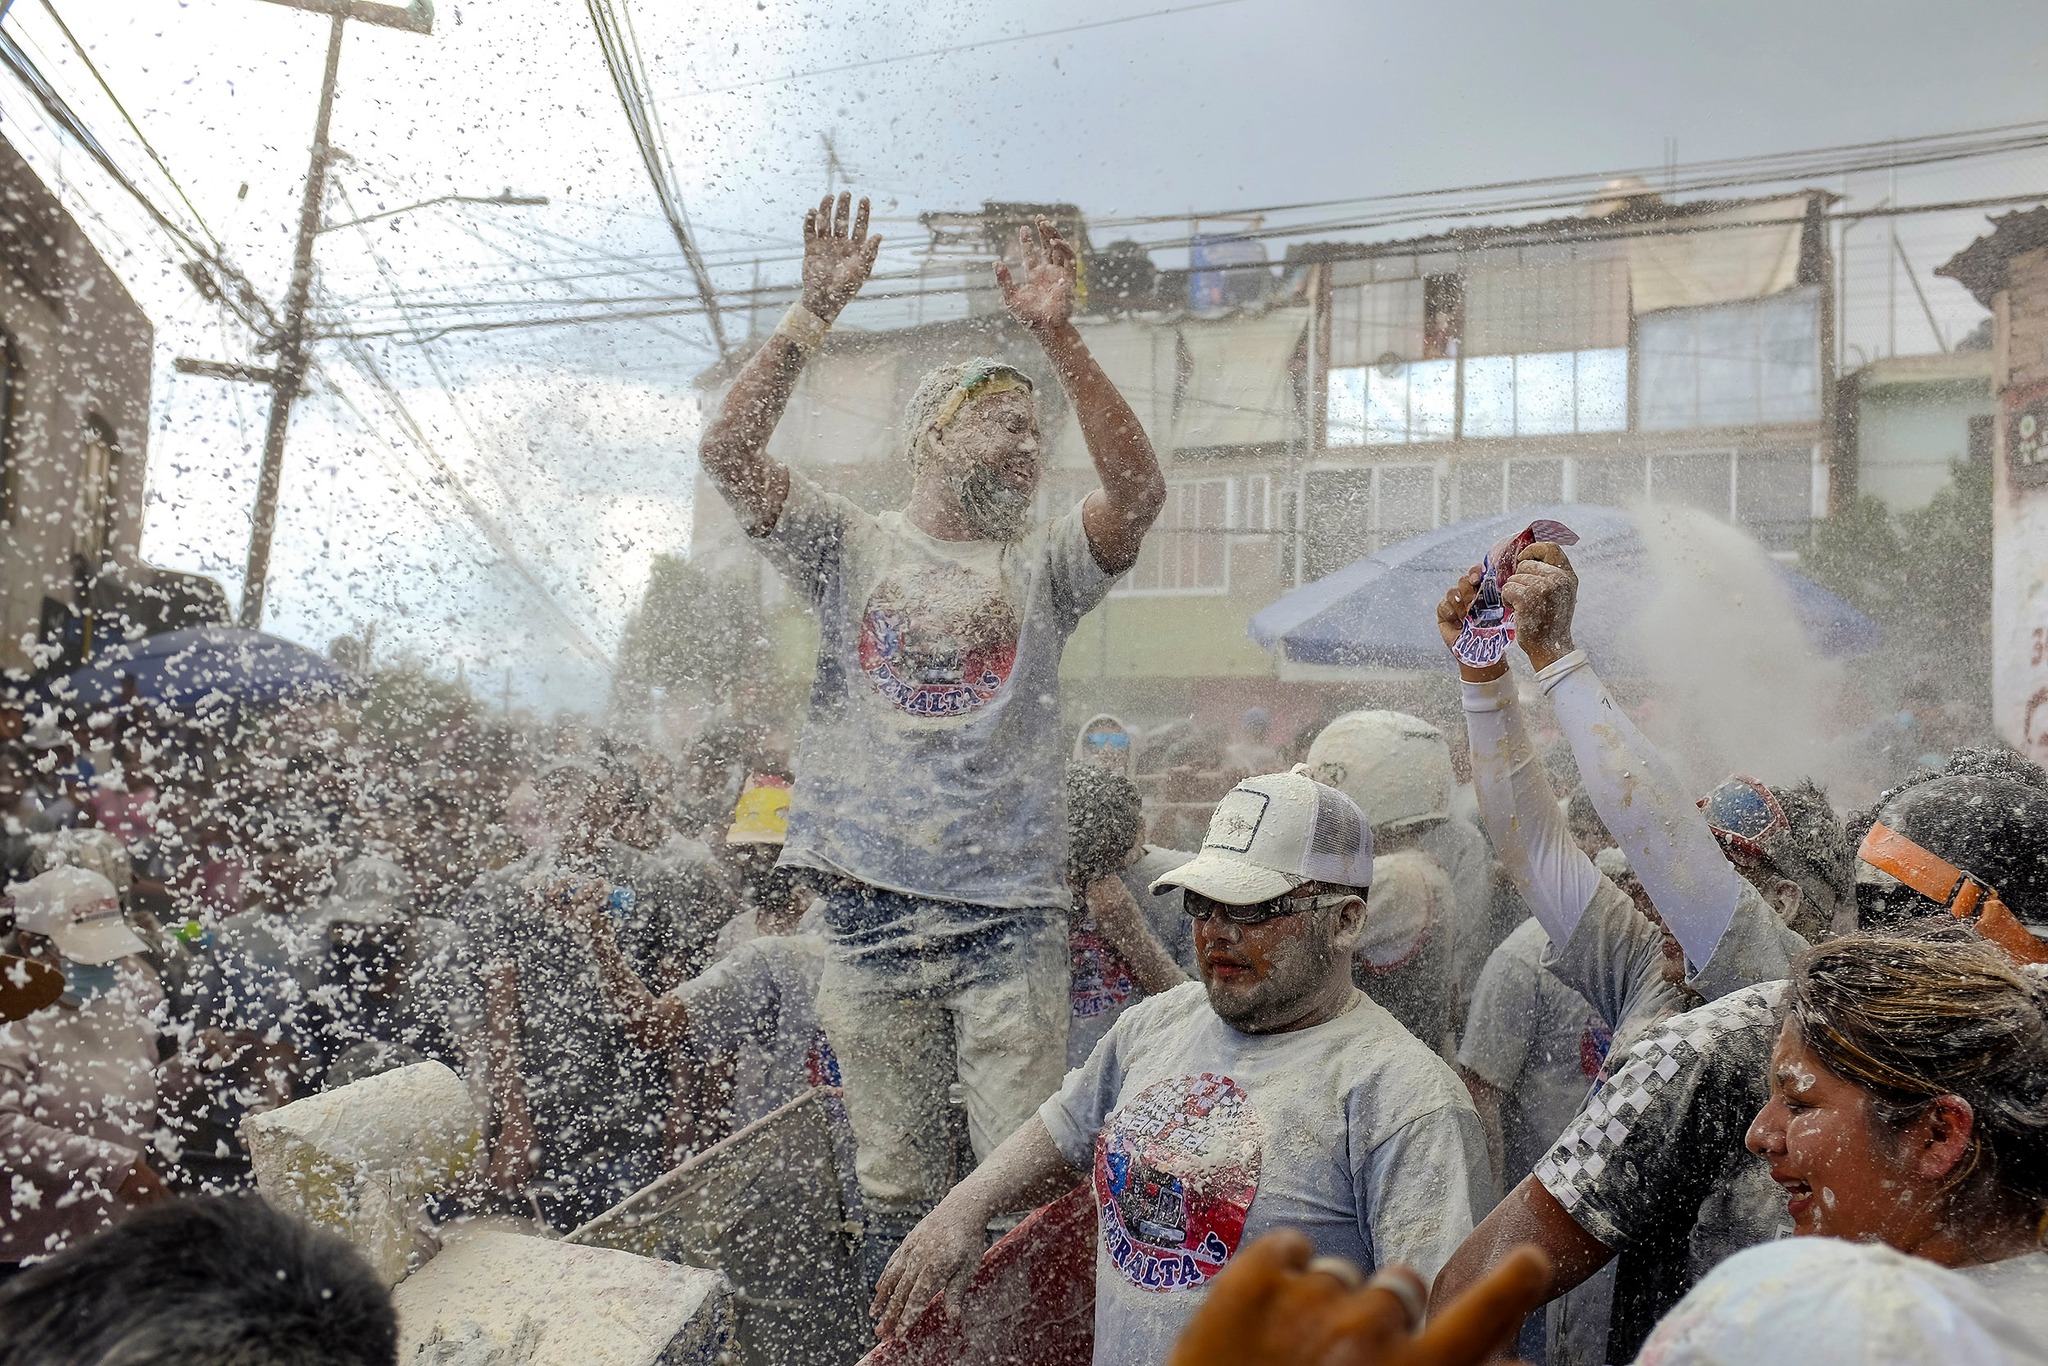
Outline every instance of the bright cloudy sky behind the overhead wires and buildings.
[[[68, 47], [51, 4], [197, 217], [281, 299], [328, 23], [266, 0], [14, 0], [0, 23], [186, 223], [193, 211]], [[743, 289], [756, 270], [766, 283], [795, 276], [803, 209], [827, 184], [825, 137], [877, 199], [883, 270], [903, 270], [924, 248], [918, 213], [987, 199], [1151, 217], [1098, 240], [1169, 242], [1204, 213], [1657, 168], [1671, 139], [1690, 164], [2021, 123], [2042, 117], [2048, 78], [2048, 27], [2028, 0], [1950, 0], [1939, 20], [1898, 0], [627, 8], [721, 289]], [[1047, 35], [1075, 25], [1094, 27]], [[963, 51], [897, 59], [932, 49]], [[848, 63], [868, 66], [811, 74]], [[238, 596], [266, 393], [176, 375], [172, 360], [254, 358], [250, 336], [6, 80], [0, 131], [158, 328], [145, 557], [213, 573]], [[334, 145], [346, 156], [330, 223], [506, 188], [549, 203], [440, 205], [319, 238], [322, 326], [383, 336], [315, 344], [266, 629], [315, 647], [375, 629], [379, 657], [461, 666], [489, 696], [506, 686], [543, 709], [600, 705], [602, 657], [651, 557], [688, 549], [700, 428], [690, 379], [715, 354], [702, 319], [389, 336], [479, 309], [530, 313], [532, 301], [594, 299], [580, 311], [602, 315], [616, 307], [604, 299], [688, 295], [588, 10], [442, 0], [428, 37], [348, 25]], [[2048, 156], [1823, 188], [1849, 207], [2048, 193]], [[1982, 225], [1982, 211], [1901, 219], [1903, 254], [1884, 225], [1851, 231], [1851, 365], [1935, 348], [1909, 268], [1946, 340], [1976, 326], [1982, 309], [1929, 272]], [[1157, 260], [1176, 264], [1174, 252]]]

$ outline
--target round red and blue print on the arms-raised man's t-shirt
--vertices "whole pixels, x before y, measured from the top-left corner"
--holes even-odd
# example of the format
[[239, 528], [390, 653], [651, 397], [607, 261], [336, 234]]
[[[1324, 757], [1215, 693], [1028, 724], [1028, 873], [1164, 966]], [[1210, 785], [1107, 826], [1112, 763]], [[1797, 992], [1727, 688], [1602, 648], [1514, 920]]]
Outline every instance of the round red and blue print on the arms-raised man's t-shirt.
[[1018, 616], [993, 578], [926, 563], [885, 578], [860, 614], [860, 672], [897, 711], [965, 717], [1004, 684]]

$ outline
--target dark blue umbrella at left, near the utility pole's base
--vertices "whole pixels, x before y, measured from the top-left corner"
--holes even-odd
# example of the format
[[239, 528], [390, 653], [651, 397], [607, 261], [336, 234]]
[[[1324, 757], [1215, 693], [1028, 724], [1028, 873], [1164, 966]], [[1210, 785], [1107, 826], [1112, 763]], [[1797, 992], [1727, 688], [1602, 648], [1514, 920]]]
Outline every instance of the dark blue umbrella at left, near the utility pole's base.
[[47, 692], [66, 705], [111, 707], [129, 678], [137, 696], [182, 713], [346, 696], [362, 686], [326, 655], [274, 635], [190, 627], [111, 645]]

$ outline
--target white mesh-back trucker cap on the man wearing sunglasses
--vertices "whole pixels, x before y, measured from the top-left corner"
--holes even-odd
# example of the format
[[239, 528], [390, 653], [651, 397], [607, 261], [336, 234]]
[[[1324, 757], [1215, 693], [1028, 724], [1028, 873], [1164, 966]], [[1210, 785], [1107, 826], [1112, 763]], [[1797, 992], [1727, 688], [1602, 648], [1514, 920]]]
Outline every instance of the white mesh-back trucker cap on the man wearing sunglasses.
[[1257, 905], [1303, 883], [1372, 885], [1372, 827], [1350, 797], [1303, 772], [1245, 778], [1217, 803], [1202, 850], [1151, 885]]

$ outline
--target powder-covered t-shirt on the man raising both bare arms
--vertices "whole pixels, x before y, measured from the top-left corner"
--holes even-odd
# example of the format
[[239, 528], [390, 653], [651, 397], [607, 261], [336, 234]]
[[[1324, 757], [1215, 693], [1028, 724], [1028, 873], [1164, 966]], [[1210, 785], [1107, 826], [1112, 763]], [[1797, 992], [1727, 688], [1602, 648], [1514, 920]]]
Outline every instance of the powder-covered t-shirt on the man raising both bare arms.
[[932, 901], [1065, 905], [1059, 655], [1112, 582], [1079, 504], [1018, 541], [934, 541], [791, 473], [762, 551], [819, 625], [782, 862]]

